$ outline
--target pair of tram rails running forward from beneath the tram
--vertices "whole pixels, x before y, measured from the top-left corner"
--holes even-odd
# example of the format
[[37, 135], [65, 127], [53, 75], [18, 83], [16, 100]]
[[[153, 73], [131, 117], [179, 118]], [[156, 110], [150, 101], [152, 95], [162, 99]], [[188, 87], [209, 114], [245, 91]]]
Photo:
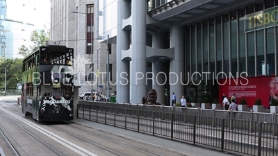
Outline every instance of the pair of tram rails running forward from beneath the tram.
[[[70, 132], [69, 130], [65, 130], [65, 129], [63, 129], [63, 128], [59, 128], [58, 126], [54, 126], [54, 125], [49, 125], [51, 128], [54, 128], [54, 129], [56, 129], [56, 130], [61, 130], [61, 131], [63, 131], [63, 132], [65, 132], [67, 135], [70, 135], [70, 136], [72, 136], [72, 137], [76, 137], [76, 138], [78, 138], [78, 139], [81, 139], [82, 141], [86, 141], [86, 142], [88, 142], [89, 144], [91, 144], [90, 142], [92, 142], [92, 141], [88, 141], [88, 139], [84, 139], [84, 138], [81, 138], [81, 137], [78, 137], [78, 136], [76, 136], [76, 135], [73, 135], [72, 134], [72, 132]], [[65, 125], [66, 127], [69, 127], [69, 128], [72, 128], [72, 129], [74, 129], [74, 130], [77, 130], [77, 131], [79, 131], [79, 132], [84, 132], [85, 134], [88, 134], [88, 135], [90, 135], [90, 136], [93, 136], [93, 137], [97, 137], [97, 138], [99, 138], [99, 139], [103, 139], [103, 140], [106, 140], [106, 141], [109, 141], [109, 142], [112, 142], [113, 144], [117, 144], [117, 145], [120, 145], [120, 146], [124, 146], [125, 148], [129, 148], [129, 149], [131, 149], [131, 150], [136, 150], [137, 152], [139, 152], [139, 153], [142, 153], [142, 154], [145, 154], [145, 155], [154, 155], [154, 156], [161, 156], [160, 154], [158, 154], [158, 153], [154, 153], [154, 152], [151, 152], [151, 151], [147, 151], [147, 150], [142, 150], [142, 149], [139, 149], [139, 148], [136, 148], [136, 146], [131, 146], [130, 144], [126, 144], [126, 143], [124, 143], [124, 142], [122, 142], [122, 141], [117, 141], [116, 139], [111, 139], [111, 138], [108, 138], [108, 137], [106, 137], [105, 135], [100, 135], [100, 134], [95, 134], [95, 133], [92, 133], [92, 132], [89, 132], [88, 130], [83, 130], [83, 129], [81, 129], [81, 128], [76, 128], [75, 126], [72, 126], [72, 125]], [[101, 147], [101, 145], [99, 145], [99, 144], [97, 144], [97, 143], [93, 143], [92, 144], [93, 146], [97, 146], [97, 147], [99, 147], [99, 148], [101, 148], [101, 149], [104, 149], [104, 150], [107, 150], [107, 147]], [[112, 150], [112, 151], [111, 151]], [[117, 153], [115, 153], [115, 151], [113, 150], [113, 149], [109, 149], [109, 152], [111, 152], [111, 153], [113, 153], [113, 154], [115, 154], [115, 155], [118, 155]], [[125, 155], [124, 153], [119, 153], [120, 155]]]

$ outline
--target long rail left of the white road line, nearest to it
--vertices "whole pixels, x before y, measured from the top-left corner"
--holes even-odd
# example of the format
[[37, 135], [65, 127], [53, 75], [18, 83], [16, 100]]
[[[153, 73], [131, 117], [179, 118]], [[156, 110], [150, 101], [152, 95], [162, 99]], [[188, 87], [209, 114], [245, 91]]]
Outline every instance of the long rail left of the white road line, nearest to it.
[[[40, 137], [36, 137], [35, 135], [31, 134], [31, 132], [28, 132], [28, 130], [26, 130], [25, 128], [23, 128], [21, 125], [19, 125], [18, 123], [16, 123], [15, 121], [13, 121], [13, 119], [11, 119], [10, 117], [2, 114], [2, 116], [6, 117], [6, 119], [8, 119], [9, 121], [11, 121], [12, 123], [14, 123], [15, 125], [17, 125], [17, 127], [19, 127], [21, 130], [23, 130], [24, 132], [26, 132], [28, 135], [30, 135], [31, 137], [33, 137], [34, 139], [36, 139], [38, 142], [40, 142], [40, 144], [44, 145], [46, 148], [48, 148], [49, 150], [51, 150], [53, 153], [55, 153], [58, 156], [63, 156], [62, 153], [60, 153], [58, 150], [56, 150], [56, 148], [53, 148], [51, 145], [47, 144], [47, 142], [42, 141], [42, 139], [40, 139]], [[15, 149], [15, 147], [13, 147]], [[15, 149], [16, 150], [16, 149]], [[17, 151], [17, 150], [16, 150]], [[18, 156], [19, 153], [17, 152]]]

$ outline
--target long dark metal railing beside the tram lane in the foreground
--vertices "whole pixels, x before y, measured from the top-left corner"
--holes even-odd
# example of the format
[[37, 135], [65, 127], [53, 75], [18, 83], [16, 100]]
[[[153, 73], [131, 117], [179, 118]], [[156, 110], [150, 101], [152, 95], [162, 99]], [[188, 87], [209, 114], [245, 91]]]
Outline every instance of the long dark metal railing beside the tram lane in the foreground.
[[189, 141], [194, 145], [204, 144], [222, 151], [231, 150], [247, 155], [278, 154], [277, 124], [237, 119], [236, 112], [225, 113], [227, 118], [106, 105], [78, 105], [78, 117], [81, 119]]

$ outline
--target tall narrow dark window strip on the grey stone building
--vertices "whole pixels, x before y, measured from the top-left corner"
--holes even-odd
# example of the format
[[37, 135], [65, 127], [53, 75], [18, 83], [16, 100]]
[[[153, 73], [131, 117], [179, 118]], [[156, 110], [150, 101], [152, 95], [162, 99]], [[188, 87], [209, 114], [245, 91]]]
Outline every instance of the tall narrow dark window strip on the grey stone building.
[[[86, 33], [87, 33], [87, 47], [86, 47], [86, 54], [92, 54], [93, 53], [93, 47], [94, 45], [91, 44], [93, 42], [93, 26], [94, 26], [94, 5], [90, 4], [86, 6], [87, 8], [87, 17], [86, 17]], [[92, 50], [92, 51], [91, 51]]]

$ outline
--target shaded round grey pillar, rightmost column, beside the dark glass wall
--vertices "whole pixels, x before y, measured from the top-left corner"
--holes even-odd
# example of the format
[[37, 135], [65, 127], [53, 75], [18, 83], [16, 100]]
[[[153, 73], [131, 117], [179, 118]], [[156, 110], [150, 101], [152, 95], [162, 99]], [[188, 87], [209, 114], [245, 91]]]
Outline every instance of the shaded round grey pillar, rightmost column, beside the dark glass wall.
[[[184, 94], [184, 86], [181, 84], [184, 78], [183, 72], [183, 62], [185, 62], [183, 57], [183, 28], [173, 26], [170, 30], [170, 47], [174, 47], [174, 60], [170, 62], [170, 92], [174, 92], [177, 96], [177, 103], [181, 96]], [[182, 74], [181, 74], [182, 72]], [[172, 101], [172, 96], [171, 96]]]

